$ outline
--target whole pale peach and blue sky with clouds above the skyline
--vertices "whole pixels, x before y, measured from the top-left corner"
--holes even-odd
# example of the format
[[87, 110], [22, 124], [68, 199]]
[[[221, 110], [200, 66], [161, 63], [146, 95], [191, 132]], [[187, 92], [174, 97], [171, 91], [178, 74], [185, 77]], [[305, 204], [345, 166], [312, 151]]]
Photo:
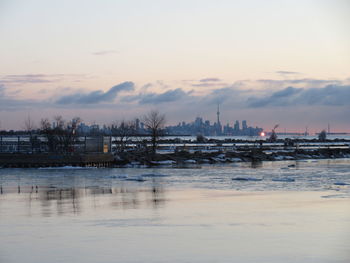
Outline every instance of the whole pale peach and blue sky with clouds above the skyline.
[[0, 0], [0, 129], [165, 113], [350, 132], [350, 1]]

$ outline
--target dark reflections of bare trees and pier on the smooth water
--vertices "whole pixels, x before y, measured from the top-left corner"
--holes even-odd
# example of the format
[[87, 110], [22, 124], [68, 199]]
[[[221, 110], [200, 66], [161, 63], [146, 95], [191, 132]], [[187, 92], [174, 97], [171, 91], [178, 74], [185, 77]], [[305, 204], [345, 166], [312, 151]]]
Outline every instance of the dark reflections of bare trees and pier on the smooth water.
[[[0, 204], [19, 201], [29, 215], [56, 216], [81, 214], [100, 208], [158, 209], [166, 203], [165, 190], [155, 180], [140, 187], [44, 187], [1, 186]], [[25, 202], [25, 203], [23, 203]], [[1, 213], [0, 206], [0, 213]]]

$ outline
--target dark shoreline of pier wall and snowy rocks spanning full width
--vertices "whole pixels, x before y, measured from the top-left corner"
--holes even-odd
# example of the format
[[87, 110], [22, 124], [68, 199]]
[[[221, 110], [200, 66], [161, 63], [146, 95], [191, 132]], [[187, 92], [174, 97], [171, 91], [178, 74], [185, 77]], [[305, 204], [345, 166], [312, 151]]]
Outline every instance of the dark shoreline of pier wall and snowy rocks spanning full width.
[[[299, 145], [260, 143], [230, 145], [209, 143], [186, 147], [159, 144], [156, 153], [146, 148], [126, 148], [113, 153], [0, 153], [0, 168], [40, 167], [186, 167], [195, 165], [259, 163], [264, 161], [298, 161], [310, 159], [350, 158], [350, 145], [327, 143]], [[164, 148], [168, 147], [168, 148]], [[192, 148], [191, 148], [192, 147]]]

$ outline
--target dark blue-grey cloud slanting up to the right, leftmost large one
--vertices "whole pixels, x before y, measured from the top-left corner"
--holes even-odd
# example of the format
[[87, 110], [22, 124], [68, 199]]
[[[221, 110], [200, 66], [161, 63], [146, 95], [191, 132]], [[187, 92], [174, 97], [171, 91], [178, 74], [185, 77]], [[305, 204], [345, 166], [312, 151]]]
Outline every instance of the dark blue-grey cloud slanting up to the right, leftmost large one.
[[107, 92], [102, 90], [95, 90], [90, 93], [74, 93], [71, 95], [62, 96], [56, 100], [57, 104], [97, 104], [113, 102], [118, 93], [122, 91], [133, 91], [133, 82], [123, 82], [118, 84]]

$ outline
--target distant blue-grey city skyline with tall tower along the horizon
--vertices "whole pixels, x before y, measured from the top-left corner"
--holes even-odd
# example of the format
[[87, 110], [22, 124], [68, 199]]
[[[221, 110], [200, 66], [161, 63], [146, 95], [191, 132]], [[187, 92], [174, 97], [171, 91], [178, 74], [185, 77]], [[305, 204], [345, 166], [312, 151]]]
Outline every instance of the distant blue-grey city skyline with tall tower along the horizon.
[[[304, 127], [304, 130], [287, 130], [285, 127], [281, 127], [281, 125], [277, 124], [274, 127], [258, 127], [252, 124], [249, 120], [232, 120], [226, 123], [222, 123], [220, 121], [220, 111], [219, 107], [216, 112], [217, 119], [216, 121], [212, 121], [209, 119], [202, 118], [200, 116], [197, 116], [194, 120], [191, 121], [179, 121], [176, 124], [166, 124], [164, 131], [167, 135], [204, 135], [204, 136], [266, 136], [271, 134], [272, 130], [275, 130], [277, 134], [284, 134], [284, 135], [317, 135], [321, 131], [325, 131], [327, 134], [349, 134], [347, 131], [335, 131], [333, 128], [331, 128], [331, 124], [328, 123], [327, 127], [322, 130], [315, 130], [313, 131], [310, 129], [310, 127], [306, 126]], [[96, 123], [96, 122], [85, 122], [80, 117], [76, 116], [72, 120], [64, 119], [60, 115], [56, 115], [52, 118], [42, 118], [40, 122], [48, 122], [51, 124], [52, 128], [56, 127], [56, 119], [59, 118], [67, 123], [73, 123], [76, 119], [79, 120], [79, 126], [77, 131], [79, 134], [105, 134], [105, 135], [111, 135], [113, 134], [113, 129], [118, 127], [122, 123], [126, 123], [128, 125], [134, 125], [135, 134], [143, 135], [148, 134], [148, 131], [144, 127], [143, 123], [143, 117], [135, 117], [132, 119], [119, 119], [115, 120], [113, 122], [109, 123]], [[141, 118], [141, 119], [140, 119]], [[0, 132], [4, 132], [5, 134], [11, 134], [11, 133], [19, 133], [22, 134], [23, 132], [38, 132], [41, 129], [40, 122], [36, 123], [33, 121], [33, 119], [30, 118], [30, 116], [27, 116], [27, 118], [24, 120], [23, 125], [20, 129], [13, 130], [13, 129], [1, 129]], [[250, 126], [252, 125], [252, 126]], [[29, 130], [28, 130], [29, 129]]]

